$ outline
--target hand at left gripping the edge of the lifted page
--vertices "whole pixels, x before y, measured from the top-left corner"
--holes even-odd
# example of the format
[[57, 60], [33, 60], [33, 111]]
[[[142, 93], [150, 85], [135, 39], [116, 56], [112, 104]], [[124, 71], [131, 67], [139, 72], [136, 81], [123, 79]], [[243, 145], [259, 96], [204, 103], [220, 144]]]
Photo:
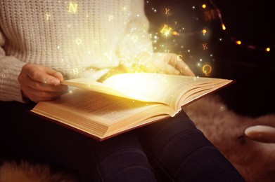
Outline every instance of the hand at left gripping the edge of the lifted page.
[[30, 63], [23, 66], [18, 76], [23, 97], [33, 102], [56, 99], [64, 94], [68, 86], [61, 85], [62, 80], [61, 73], [46, 66]]

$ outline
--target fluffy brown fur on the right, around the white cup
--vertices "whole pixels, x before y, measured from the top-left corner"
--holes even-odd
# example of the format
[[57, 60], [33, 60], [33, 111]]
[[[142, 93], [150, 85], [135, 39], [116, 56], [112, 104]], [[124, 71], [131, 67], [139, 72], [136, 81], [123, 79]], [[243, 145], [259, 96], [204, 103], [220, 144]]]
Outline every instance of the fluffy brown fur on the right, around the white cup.
[[184, 111], [246, 181], [275, 181], [275, 144], [243, 137], [246, 127], [275, 126], [274, 114], [258, 118], [238, 116], [214, 95], [193, 102], [184, 107]]

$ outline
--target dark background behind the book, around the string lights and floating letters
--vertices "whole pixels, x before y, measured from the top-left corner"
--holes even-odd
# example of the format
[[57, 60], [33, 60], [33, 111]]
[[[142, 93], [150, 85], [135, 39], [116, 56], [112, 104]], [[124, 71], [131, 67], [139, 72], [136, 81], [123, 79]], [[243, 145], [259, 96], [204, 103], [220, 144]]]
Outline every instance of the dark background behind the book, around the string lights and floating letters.
[[[152, 34], [158, 31], [160, 35], [160, 29], [166, 24], [183, 35], [160, 37], [156, 45], [162, 42], [170, 47], [171, 52], [184, 55], [184, 61], [198, 76], [205, 76], [197, 66], [198, 59], [206, 57], [202, 63], [212, 66], [208, 76], [236, 80], [236, 83], [217, 92], [229, 109], [252, 117], [275, 113], [275, 31], [272, 26], [274, 20], [271, 20], [271, 1], [145, 2]], [[203, 3], [207, 8], [201, 7]], [[170, 9], [167, 14], [165, 8]], [[205, 10], [215, 10], [215, 18], [205, 20]], [[222, 18], [219, 18], [219, 13]], [[221, 28], [222, 23], [226, 26], [225, 31]], [[204, 28], [208, 36], [198, 33]], [[242, 44], [237, 45], [235, 40], [241, 40]], [[203, 43], [207, 43], [207, 50], [202, 49]], [[266, 52], [266, 47], [271, 51]], [[161, 48], [158, 50], [161, 51]]]

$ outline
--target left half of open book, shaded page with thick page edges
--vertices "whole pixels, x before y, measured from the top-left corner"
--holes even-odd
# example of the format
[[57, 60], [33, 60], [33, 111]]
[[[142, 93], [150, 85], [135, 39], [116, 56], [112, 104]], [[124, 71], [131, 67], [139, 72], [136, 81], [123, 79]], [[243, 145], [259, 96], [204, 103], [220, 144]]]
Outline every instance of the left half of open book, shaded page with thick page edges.
[[31, 111], [99, 138], [176, 114], [165, 104], [139, 102], [83, 89], [63, 94], [60, 99], [39, 102]]

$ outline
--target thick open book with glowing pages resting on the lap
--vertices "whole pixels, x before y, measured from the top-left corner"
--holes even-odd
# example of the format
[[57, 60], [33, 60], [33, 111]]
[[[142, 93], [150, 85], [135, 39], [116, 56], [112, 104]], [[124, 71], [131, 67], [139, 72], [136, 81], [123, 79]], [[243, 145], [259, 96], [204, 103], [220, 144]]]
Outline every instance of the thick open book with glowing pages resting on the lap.
[[31, 111], [102, 141], [174, 117], [181, 106], [232, 82], [161, 73], [122, 73], [103, 83], [77, 78], [63, 81], [75, 89], [60, 99], [39, 102]]

